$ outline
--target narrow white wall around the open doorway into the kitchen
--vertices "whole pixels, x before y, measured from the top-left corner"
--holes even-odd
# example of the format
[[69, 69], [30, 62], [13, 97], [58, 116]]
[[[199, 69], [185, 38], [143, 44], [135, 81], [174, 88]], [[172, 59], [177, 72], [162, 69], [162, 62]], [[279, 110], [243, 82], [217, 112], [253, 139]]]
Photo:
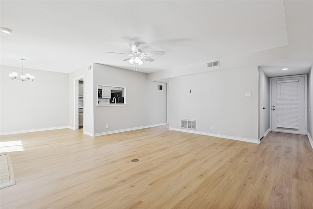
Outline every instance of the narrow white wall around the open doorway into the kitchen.
[[[92, 66], [92, 64], [91, 64]], [[93, 134], [93, 70], [89, 66], [83, 67], [69, 74], [68, 76], [68, 122], [74, 129], [74, 120], [78, 122], [78, 108], [75, 107], [75, 99], [78, 102], [78, 80], [84, 78], [84, 133]], [[76, 92], [74, 91], [76, 88]], [[78, 103], [77, 103], [78, 104]], [[78, 107], [78, 106], [77, 106]], [[77, 126], [78, 127], [78, 126]]]

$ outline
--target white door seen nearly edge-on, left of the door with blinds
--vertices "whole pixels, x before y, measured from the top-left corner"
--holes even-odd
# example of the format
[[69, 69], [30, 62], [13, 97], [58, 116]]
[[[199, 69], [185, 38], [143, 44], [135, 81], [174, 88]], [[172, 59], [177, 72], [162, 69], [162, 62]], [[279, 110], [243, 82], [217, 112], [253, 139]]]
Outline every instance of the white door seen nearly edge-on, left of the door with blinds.
[[259, 70], [259, 139], [264, 137], [265, 133], [265, 106], [264, 106], [264, 72]]

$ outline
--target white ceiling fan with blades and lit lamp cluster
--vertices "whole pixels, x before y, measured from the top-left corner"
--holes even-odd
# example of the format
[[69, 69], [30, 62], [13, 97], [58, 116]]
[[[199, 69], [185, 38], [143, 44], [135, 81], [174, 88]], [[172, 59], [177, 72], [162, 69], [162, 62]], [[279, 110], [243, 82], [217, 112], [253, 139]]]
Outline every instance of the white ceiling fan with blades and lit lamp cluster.
[[132, 65], [135, 63], [135, 65], [142, 65], [143, 62], [142, 60], [145, 61], [149, 61], [149, 62], [153, 62], [155, 61], [154, 59], [150, 58], [149, 56], [155, 56], [155, 55], [162, 55], [165, 54], [165, 51], [148, 51], [148, 52], [142, 52], [142, 50], [140, 50], [138, 48], [138, 46], [140, 45], [139, 42], [135, 42], [134, 44], [129, 44], [130, 48], [131, 48], [131, 52], [129, 54], [126, 53], [118, 53], [118, 52], [110, 52], [107, 51], [107, 53], [114, 53], [114, 54], [124, 54], [126, 56], [130, 56], [129, 58], [122, 60], [122, 61], [128, 61], [130, 62]]

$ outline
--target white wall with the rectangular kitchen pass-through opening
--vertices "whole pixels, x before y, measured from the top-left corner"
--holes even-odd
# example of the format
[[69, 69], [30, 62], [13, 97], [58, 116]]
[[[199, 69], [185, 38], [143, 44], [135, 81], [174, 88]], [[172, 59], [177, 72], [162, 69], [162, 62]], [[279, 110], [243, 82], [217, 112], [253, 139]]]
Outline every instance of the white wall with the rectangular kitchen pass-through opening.
[[[94, 64], [93, 79], [94, 134], [166, 123], [166, 84], [148, 81], [145, 73], [101, 64]], [[96, 106], [98, 84], [125, 87], [127, 106]]]

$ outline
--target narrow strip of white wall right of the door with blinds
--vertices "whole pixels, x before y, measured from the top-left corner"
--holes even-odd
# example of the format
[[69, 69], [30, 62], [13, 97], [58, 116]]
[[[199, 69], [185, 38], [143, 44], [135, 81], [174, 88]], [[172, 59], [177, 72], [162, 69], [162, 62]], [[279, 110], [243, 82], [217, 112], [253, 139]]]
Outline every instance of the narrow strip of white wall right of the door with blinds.
[[313, 138], [313, 66], [308, 75], [308, 132]]

